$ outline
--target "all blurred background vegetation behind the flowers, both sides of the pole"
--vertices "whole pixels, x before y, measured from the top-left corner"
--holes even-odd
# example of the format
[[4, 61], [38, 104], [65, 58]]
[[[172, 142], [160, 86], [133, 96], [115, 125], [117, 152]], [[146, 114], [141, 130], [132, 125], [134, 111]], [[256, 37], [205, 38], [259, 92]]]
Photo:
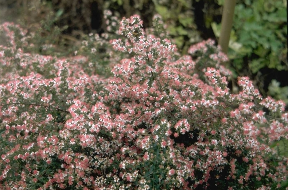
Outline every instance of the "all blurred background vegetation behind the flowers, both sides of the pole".
[[[158, 13], [173, 43], [185, 54], [192, 44], [209, 38], [217, 41], [223, 4], [224, 0], [0, 0], [0, 21], [16, 21], [17, 17], [34, 32], [35, 49], [29, 51], [68, 56], [81, 52], [89, 33], [101, 36], [109, 32], [103, 14], [106, 9], [119, 18], [139, 14], [144, 28], [152, 26], [152, 17]], [[286, 6], [285, 0], [237, 0], [228, 51], [235, 78], [247, 75], [264, 97], [285, 102]], [[103, 57], [109, 53], [105, 47], [98, 49]], [[271, 87], [275, 84], [278, 88]]]

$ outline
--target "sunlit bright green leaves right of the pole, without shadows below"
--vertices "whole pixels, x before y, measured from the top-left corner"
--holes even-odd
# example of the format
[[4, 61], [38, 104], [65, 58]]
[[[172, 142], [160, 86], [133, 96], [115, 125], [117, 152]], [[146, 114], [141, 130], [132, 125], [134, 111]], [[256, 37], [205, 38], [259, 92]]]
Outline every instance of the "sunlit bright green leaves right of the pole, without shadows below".
[[[249, 63], [253, 73], [263, 67], [287, 69], [286, 55], [286, 7], [282, 0], [244, 1], [235, 7], [230, 58], [236, 59], [234, 66], [243, 67], [242, 57], [255, 55]], [[214, 31], [217, 29], [214, 23]], [[217, 33], [216, 33], [217, 34]], [[233, 46], [237, 42], [238, 47]], [[240, 58], [240, 61], [237, 59]], [[285, 62], [281, 63], [281, 62]]]

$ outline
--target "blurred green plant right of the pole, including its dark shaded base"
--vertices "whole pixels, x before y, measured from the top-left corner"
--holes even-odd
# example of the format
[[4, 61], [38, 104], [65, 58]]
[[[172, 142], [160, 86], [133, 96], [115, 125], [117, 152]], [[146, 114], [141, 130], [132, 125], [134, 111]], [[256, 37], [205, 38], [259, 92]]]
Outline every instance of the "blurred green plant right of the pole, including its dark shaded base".
[[[238, 1], [235, 7], [233, 29], [228, 57], [235, 76], [253, 78], [264, 96], [271, 95], [287, 102], [287, 13], [286, 1]], [[223, 1], [218, 1], [219, 5]], [[219, 37], [221, 23], [212, 22]], [[278, 82], [278, 89], [270, 87]], [[281, 95], [280, 95], [281, 94]]]

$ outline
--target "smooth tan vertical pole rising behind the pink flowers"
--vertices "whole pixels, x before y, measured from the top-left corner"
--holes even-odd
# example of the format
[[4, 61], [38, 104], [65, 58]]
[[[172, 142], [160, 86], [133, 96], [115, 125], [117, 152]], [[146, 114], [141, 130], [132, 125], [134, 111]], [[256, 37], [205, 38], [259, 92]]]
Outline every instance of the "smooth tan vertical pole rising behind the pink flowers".
[[228, 45], [232, 29], [235, 5], [236, 0], [225, 0], [223, 6], [221, 31], [218, 44], [221, 46], [222, 52], [225, 54], [228, 53]]

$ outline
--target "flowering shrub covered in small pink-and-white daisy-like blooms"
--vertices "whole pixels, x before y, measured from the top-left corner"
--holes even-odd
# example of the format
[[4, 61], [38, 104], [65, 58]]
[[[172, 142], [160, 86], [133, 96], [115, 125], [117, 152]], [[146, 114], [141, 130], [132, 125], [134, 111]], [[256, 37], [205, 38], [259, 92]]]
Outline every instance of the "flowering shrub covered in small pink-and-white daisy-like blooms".
[[23, 52], [22, 30], [1, 25], [0, 189], [284, 188], [287, 158], [268, 146], [288, 139], [284, 103], [247, 77], [231, 94], [212, 40], [192, 59], [141, 27], [123, 18], [123, 59], [102, 78], [86, 59]]

